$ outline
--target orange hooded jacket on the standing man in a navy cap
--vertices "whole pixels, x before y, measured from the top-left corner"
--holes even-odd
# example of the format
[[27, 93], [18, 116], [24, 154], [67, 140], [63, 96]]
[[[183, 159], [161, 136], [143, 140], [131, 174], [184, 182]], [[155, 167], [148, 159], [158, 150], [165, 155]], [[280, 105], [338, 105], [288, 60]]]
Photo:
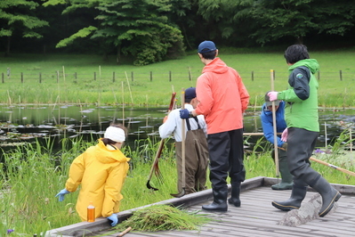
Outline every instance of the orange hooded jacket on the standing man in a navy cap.
[[198, 77], [196, 94], [199, 103], [195, 111], [205, 116], [207, 134], [243, 128], [249, 94], [237, 70], [215, 58]]

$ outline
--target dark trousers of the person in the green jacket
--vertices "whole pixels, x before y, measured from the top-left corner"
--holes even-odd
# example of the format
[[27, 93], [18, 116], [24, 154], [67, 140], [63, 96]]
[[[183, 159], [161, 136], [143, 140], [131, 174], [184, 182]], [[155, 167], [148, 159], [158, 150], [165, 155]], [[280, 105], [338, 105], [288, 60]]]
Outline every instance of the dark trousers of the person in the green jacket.
[[313, 185], [320, 174], [311, 168], [310, 158], [316, 146], [318, 132], [289, 127], [287, 135], [287, 164], [294, 176], [294, 184]]

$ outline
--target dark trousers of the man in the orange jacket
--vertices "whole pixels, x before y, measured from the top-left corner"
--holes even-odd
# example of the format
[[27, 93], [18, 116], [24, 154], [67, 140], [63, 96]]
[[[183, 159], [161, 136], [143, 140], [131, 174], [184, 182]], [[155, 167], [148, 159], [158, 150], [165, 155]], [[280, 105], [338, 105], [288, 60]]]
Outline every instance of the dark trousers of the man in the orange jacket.
[[243, 129], [208, 135], [210, 181], [214, 191], [226, 191], [230, 183], [246, 179], [244, 168]]

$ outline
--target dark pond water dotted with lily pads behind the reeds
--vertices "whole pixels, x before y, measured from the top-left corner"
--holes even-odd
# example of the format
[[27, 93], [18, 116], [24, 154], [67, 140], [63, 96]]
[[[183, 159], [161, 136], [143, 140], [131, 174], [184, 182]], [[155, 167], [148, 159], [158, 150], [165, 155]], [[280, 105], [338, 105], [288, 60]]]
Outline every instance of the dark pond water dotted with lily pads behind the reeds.
[[[246, 111], [245, 132], [262, 133], [260, 110], [255, 108]], [[129, 129], [126, 144], [134, 146], [136, 139], [158, 139], [158, 127], [165, 114], [166, 108], [163, 107], [3, 105], [0, 106], [0, 147], [7, 151], [49, 136], [58, 142], [64, 137], [77, 136], [82, 136], [85, 141], [93, 141], [103, 136], [112, 121], [122, 123]], [[321, 131], [317, 146], [322, 147], [340, 135], [344, 127], [355, 130], [355, 110], [319, 110], [319, 124]], [[253, 145], [260, 137], [253, 136], [248, 141]]]

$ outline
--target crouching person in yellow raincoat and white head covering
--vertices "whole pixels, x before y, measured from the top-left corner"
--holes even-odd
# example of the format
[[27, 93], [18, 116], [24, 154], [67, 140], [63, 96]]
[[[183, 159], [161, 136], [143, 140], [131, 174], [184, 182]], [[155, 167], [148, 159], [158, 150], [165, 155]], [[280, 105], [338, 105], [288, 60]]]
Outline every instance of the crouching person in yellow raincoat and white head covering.
[[111, 226], [118, 223], [122, 186], [128, 171], [128, 161], [120, 151], [125, 142], [125, 127], [111, 124], [99, 143], [89, 147], [73, 160], [69, 169], [69, 179], [65, 189], [56, 197], [64, 200], [64, 195], [81, 189], [77, 198], [77, 213], [82, 221], [87, 220], [87, 206], [93, 202], [95, 217], [107, 217]]

